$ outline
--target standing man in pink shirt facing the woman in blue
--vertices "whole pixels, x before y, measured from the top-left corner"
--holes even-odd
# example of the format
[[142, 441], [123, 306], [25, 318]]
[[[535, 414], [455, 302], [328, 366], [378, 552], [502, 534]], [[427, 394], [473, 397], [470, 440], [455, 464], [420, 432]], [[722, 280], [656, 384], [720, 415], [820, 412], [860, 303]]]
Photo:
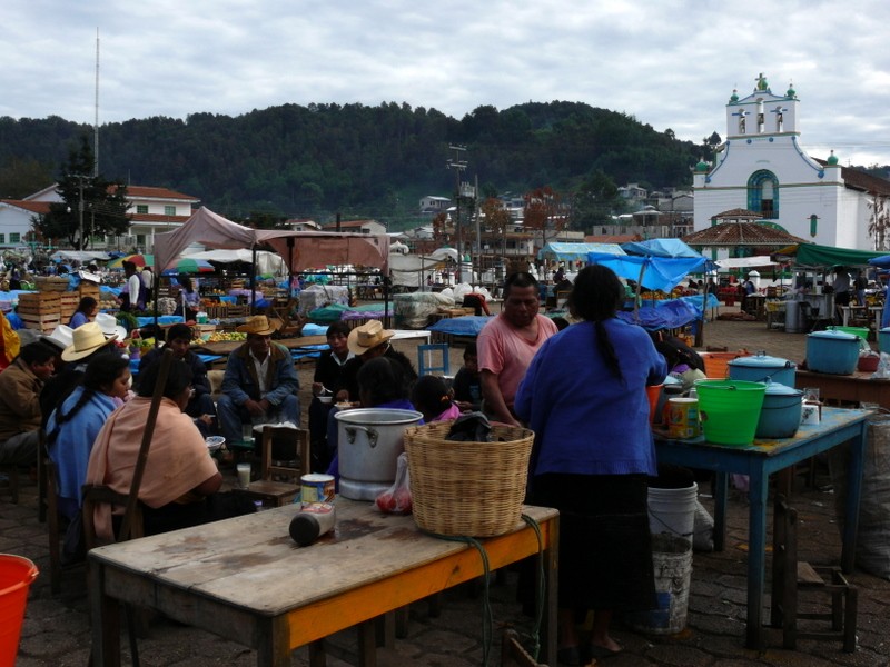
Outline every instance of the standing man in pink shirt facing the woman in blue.
[[504, 283], [501, 315], [485, 325], [477, 339], [479, 381], [485, 411], [504, 424], [521, 426], [513, 399], [532, 357], [556, 334], [556, 325], [537, 313], [537, 280], [531, 273], [510, 276]]

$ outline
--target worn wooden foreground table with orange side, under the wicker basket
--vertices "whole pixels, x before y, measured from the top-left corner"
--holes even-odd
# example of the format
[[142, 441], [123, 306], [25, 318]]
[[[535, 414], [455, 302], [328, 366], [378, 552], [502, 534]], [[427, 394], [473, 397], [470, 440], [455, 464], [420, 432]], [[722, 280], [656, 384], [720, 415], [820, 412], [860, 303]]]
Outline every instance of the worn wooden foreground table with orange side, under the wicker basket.
[[[310, 547], [288, 535], [294, 505], [89, 552], [95, 665], [120, 665], [118, 601], [151, 607], [257, 650], [260, 666], [290, 665], [309, 644], [360, 624], [360, 664], [376, 664], [374, 619], [483, 574], [472, 546], [422, 534], [411, 516], [337, 498], [337, 525]], [[556, 664], [558, 512], [526, 506], [541, 526], [545, 595], [544, 660]], [[538, 552], [532, 527], [481, 540], [497, 569]], [[369, 627], [370, 626], [370, 627]], [[365, 650], [362, 650], [364, 648]]]

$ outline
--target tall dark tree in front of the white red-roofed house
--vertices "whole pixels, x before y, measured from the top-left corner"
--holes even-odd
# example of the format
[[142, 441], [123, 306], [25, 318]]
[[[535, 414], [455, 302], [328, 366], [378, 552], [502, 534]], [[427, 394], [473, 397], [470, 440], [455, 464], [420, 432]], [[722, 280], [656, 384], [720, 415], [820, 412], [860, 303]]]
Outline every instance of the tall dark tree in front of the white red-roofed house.
[[93, 236], [122, 236], [129, 231], [127, 186], [101, 175], [91, 176], [93, 163], [89, 141], [86, 135], [81, 136], [80, 147], [71, 148], [68, 161], [61, 166], [56, 191], [62, 200], [50, 203], [48, 213], [32, 218], [34, 229], [44, 239], [65, 239], [83, 250]]

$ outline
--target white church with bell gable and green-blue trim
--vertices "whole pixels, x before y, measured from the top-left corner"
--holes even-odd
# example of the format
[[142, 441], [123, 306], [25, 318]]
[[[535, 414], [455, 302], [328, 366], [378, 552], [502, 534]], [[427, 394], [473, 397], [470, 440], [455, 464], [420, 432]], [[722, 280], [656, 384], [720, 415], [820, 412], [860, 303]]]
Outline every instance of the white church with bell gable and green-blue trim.
[[886, 210], [890, 181], [841, 167], [833, 151], [818, 160], [801, 146], [800, 100], [789, 86], [782, 94], [761, 74], [754, 91], [726, 103], [725, 141], [714, 165], [695, 168], [694, 229], [705, 229], [732, 209], [819, 243], [857, 250], [890, 249], [890, 238], [869, 233]]

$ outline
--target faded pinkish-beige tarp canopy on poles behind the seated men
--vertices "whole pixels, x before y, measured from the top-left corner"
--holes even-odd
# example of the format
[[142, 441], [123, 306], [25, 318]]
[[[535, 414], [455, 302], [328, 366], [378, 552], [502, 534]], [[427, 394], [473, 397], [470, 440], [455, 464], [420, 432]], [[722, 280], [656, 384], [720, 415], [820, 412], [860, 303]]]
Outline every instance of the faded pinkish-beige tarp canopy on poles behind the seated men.
[[155, 267], [160, 273], [198, 242], [216, 249], [253, 249], [268, 243], [294, 272], [329, 265], [360, 265], [387, 269], [389, 237], [386, 235], [250, 229], [206, 207], [198, 209], [179, 229], [155, 237]]

